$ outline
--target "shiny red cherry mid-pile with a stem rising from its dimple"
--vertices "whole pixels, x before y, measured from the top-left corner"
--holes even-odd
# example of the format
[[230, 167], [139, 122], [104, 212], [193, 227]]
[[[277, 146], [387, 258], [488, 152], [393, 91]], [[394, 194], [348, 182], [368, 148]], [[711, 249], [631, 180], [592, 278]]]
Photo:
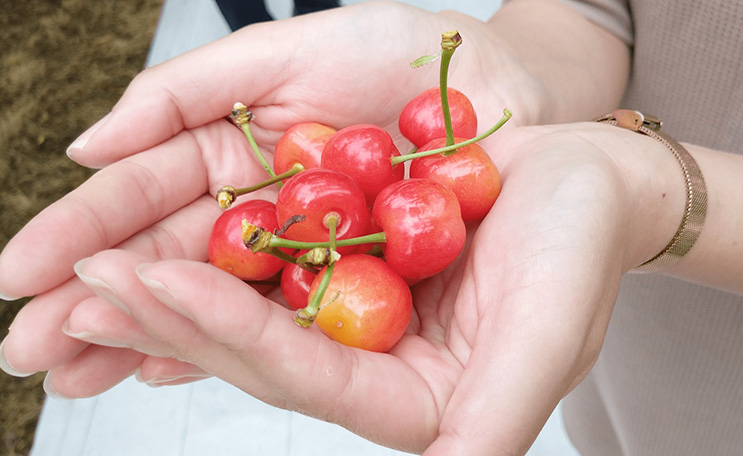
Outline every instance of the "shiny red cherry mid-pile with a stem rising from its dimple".
[[[302, 215], [304, 221], [291, 225], [283, 237], [295, 241], [327, 242], [327, 217], [338, 216], [336, 238], [347, 239], [368, 234], [369, 209], [361, 189], [345, 174], [324, 168], [302, 171], [289, 179], [279, 191], [276, 212], [280, 224]], [[341, 254], [358, 247], [339, 248]]]

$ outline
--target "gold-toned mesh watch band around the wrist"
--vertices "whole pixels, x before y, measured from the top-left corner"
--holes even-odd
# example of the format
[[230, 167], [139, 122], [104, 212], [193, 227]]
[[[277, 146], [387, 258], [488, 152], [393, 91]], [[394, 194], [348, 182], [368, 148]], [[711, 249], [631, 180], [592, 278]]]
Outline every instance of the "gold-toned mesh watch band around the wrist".
[[594, 120], [637, 131], [660, 141], [671, 151], [681, 166], [686, 182], [686, 207], [681, 225], [671, 242], [663, 250], [635, 269], [637, 272], [662, 271], [683, 258], [691, 250], [702, 231], [704, 219], [707, 216], [707, 186], [704, 183], [702, 171], [694, 157], [681, 144], [660, 131], [661, 121], [654, 116], [629, 109], [617, 109]]

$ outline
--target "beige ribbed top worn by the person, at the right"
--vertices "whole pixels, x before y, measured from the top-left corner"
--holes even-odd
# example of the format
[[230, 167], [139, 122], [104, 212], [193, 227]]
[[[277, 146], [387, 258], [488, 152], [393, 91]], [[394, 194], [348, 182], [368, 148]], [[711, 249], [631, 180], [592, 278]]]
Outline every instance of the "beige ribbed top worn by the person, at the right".
[[[681, 142], [743, 153], [743, 1], [562, 1], [633, 44], [622, 107]], [[586, 456], [743, 455], [743, 296], [627, 275], [563, 412]]]

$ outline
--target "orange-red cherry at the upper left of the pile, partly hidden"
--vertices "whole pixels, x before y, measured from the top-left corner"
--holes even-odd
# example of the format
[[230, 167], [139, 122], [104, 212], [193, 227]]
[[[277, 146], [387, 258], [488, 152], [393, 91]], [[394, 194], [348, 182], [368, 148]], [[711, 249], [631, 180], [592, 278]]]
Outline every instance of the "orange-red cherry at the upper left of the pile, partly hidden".
[[335, 128], [317, 122], [302, 122], [290, 127], [276, 143], [273, 169], [276, 174], [289, 171], [296, 163], [304, 169], [319, 168], [325, 143]]

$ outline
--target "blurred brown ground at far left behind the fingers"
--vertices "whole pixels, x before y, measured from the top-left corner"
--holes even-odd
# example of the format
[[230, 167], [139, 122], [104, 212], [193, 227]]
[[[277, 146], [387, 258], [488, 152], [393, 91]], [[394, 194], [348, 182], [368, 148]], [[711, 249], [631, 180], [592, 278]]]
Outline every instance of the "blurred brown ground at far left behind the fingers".
[[[163, 0], [0, 0], [0, 248], [92, 171], [67, 145], [144, 66]], [[0, 301], [0, 338], [27, 302]], [[27, 455], [44, 375], [0, 372], [0, 455]]]

